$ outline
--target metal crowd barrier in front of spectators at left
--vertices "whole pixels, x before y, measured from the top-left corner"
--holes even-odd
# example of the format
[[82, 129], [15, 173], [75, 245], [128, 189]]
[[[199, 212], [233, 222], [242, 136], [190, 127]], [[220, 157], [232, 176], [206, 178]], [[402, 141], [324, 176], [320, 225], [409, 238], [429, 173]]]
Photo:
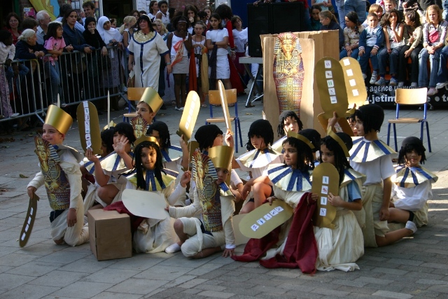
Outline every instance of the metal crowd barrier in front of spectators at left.
[[128, 76], [125, 53], [118, 47], [108, 47], [107, 52], [106, 56], [101, 49], [89, 54], [64, 53], [52, 69], [51, 55], [13, 61], [11, 67], [0, 64], [0, 122], [29, 116], [43, 121], [57, 95], [62, 107], [87, 100], [95, 101], [99, 110], [107, 108], [108, 90], [111, 99], [123, 97]]

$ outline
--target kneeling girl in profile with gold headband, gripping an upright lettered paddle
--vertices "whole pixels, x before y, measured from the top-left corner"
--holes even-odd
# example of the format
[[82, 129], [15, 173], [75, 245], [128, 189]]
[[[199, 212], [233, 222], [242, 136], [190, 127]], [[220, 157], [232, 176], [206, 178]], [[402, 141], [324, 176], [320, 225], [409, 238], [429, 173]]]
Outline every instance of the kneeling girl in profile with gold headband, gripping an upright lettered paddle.
[[355, 262], [364, 254], [363, 232], [352, 211], [363, 208], [360, 189], [365, 177], [354, 171], [347, 160], [352, 146], [351, 137], [343, 132], [330, 130], [329, 136], [321, 140], [321, 162], [331, 163], [339, 172], [339, 194], [328, 194], [328, 202], [337, 207], [332, 221], [335, 228], [314, 227], [319, 253], [317, 270], [359, 270]]

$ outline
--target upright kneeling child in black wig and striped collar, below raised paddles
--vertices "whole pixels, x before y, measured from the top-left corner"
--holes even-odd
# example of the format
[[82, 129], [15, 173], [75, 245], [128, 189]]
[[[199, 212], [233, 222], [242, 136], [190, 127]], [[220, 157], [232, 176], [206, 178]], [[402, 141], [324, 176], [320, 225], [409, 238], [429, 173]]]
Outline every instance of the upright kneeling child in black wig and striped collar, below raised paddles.
[[414, 233], [402, 228], [388, 232], [389, 202], [395, 174], [391, 155], [395, 152], [378, 139], [384, 120], [384, 111], [377, 104], [360, 106], [355, 111], [358, 137], [350, 151], [350, 166], [365, 174], [367, 179], [361, 190], [365, 225], [362, 225], [364, 246], [386, 246]]

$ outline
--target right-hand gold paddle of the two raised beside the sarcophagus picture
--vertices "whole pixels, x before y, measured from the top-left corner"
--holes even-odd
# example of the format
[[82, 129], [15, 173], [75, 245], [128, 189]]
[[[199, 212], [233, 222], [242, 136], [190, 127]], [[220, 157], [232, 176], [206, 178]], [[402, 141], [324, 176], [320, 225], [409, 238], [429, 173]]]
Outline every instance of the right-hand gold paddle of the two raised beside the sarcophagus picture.
[[344, 57], [339, 60], [342, 71], [344, 71], [345, 88], [347, 92], [347, 100], [349, 106], [353, 108], [353, 104], [357, 107], [363, 106], [367, 100], [367, 90], [363, 78], [363, 72], [359, 62], [352, 57]]

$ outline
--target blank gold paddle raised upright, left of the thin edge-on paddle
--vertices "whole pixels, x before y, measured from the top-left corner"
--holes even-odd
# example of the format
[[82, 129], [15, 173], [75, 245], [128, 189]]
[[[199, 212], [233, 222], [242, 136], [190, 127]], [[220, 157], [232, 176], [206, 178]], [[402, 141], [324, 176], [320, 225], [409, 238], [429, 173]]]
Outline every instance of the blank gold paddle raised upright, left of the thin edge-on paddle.
[[179, 123], [179, 130], [176, 132], [179, 137], [183, 135], [183, 140], [186, 142], [191, 139], [191, 135], [193, 134], [200, 106], [201, 101], [199, 95], [194, 90], [188, 92], [181, 122]]

